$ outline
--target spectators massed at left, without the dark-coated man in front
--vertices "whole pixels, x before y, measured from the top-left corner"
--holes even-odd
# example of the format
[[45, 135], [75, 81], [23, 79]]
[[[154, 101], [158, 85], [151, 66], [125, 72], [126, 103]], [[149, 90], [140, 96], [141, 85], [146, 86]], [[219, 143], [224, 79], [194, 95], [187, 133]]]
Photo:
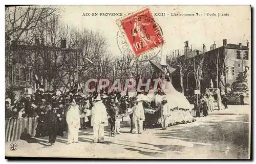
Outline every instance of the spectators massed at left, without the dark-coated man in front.
[[[75, 91], [68, 92], [66, 94], [56, 94], [56, 92], [44, 92], [37, 90], [35, 95], [24, 96], [20, 100], [11, 100], [7, 98], [5, 101], [5, 118], [6, 119], [24, 119], [27, 117], [35, 117], [38, 120], [37, 135], [47, 135], [47, 113], [56, 108], [58, 113], [61, 114], [62, 121], [60, 123], [60, 133], [68, 131], [66, 123], [67, 104], [74, 101], [79, 105], [81, 128], [90, 127], [91, 117], [87, 115], [88, 110], [91, 110], [96, 97], [100, 94], [102, 102], [106, 106], [106, 110], [109, 116], [121, 115], [126, 113], [127, 107], [132, 107], [135, 98], [128, 96], [121, 96], [118, 92], [104, 92], [101, 93], [88, 93], [88, 95], [81, 95]], [[119, 110], [113, 112], [113, 104], [119, 106]], [[109, 117], [111, 126], [114, 127], [114, 117]]]

